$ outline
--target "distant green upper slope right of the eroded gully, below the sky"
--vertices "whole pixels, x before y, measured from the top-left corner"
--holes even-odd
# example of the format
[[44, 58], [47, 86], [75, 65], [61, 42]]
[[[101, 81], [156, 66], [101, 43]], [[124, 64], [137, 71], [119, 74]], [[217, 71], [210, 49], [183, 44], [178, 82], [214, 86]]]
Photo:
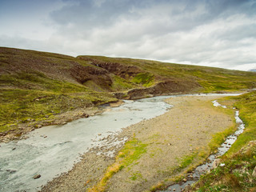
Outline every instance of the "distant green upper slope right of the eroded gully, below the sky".
[[[102, 56], [79, 56], [92, 58], [101, 62], [119, 62], [126, 65], [138, 66], [156, 77], [162, 79], [187, 79], [197, 81], [204, 92], [218, 90], [240, 90], [256, 86], [256, 74], [238, 70], [225, 70], [206, 66], [189, 66], [174, 63], [157, 62], [132, 58], [107, 58]], [[79, 58], [78, 57], [78, 58]], [[146, 76], [148, 78], [148, 76]]]

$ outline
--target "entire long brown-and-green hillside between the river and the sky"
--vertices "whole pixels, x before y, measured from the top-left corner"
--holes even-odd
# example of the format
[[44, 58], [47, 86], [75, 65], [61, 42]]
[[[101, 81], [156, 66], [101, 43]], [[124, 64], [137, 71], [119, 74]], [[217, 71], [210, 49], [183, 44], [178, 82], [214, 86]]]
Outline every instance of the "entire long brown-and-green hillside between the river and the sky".
[[118, 98], [256, 87], [253, 72], [5, 47], [0, 47], [0, 75], [0, 136], [14, 130], [17, 137], [19, 130], [56, 123], [70, 111], [78, 111], [79, 118]]

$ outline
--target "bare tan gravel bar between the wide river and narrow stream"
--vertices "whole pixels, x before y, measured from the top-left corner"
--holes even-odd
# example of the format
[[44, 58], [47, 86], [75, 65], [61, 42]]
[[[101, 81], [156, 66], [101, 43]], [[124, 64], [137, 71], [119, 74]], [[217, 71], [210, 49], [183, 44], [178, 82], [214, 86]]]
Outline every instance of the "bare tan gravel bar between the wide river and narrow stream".
[[[118, 138], [135, 137], [146, 144], [146, 153], [114, 174], [107, 191], [144, 191], [175, 175], [180, 158], [207, 146], [213, 134], [233, 125], [232, 118], [216, 110], [210, 101], [222, 96], [178, 97], [167, 102], [166, 114], [130, 126]], [[118, 151], [120, 148], [116, 149]], [[96, 155], [94, 149], [67, 174], [55, 178], [42, 191], [86, 191], [102, 178], [114, 158]]]

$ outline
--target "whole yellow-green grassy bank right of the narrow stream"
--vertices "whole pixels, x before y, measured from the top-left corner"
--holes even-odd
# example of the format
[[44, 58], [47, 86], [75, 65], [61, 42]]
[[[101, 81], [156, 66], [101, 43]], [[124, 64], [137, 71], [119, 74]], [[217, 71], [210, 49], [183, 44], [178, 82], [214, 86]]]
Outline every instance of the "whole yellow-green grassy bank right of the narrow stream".
[[[197, 191], [255, 191], [256, 178], [256, 91], [232, 98], [240, 110], [239, 117], [246, 124], [230, 150], [222, 157], [225, 166], [218, 166], [200, 178]], [[252, 142], [254, 141], [254, 142]]]

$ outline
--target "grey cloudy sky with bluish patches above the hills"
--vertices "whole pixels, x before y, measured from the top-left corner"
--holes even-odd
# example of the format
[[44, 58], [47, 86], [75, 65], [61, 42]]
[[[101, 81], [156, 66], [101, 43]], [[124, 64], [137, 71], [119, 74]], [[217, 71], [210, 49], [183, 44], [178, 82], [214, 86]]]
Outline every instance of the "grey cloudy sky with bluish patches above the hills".
[[256, 69], [256, 0], [0, 0], [0, 46]]

